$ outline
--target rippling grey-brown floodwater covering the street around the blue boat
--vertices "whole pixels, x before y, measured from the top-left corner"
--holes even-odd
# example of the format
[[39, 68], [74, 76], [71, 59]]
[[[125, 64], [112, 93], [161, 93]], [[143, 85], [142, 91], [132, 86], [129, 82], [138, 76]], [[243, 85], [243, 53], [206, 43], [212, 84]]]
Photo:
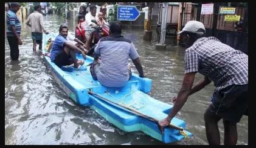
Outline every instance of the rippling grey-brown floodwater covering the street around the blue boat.
[[[61, 16], [44, 17], [50, 33], [58, 32], [64, 22]], [[74, 33], [74, 21], [67, 23]], [[153, 81], [150, 95], [170, 103], [182, 85], [185, 49], [171, 47], [173, 41], [167, 39], [167, 50], [156, 50], [155, 29], [152, 42], [143, 40], [143, 28], [133, 27], [129, 34], [125, 27], [122, 34], [133, 41], [146, 76]], [[142, 132], [123, 132], [94, 110], [75, 104], [55, 82], [41, 52], [33, 53], [30, 28], [24, 22], [21, 40], [19, 60], [11, 61], [5, 37], [5, 144], [164, 144]], [[132, 71], [137, 73], [134, 65]], [[196, 74], [195, 83], [201, 77]], [[176, 117], [185, 121], [193, 136], [171, 144], [208, 144], [203, 114], [214, 88], [212, 82], [189, 97]], [[219, 127], [223, 144], [222, 120]], [[237, 127], [237, 144], [248, 144], [248, 117], [242, 117]]]

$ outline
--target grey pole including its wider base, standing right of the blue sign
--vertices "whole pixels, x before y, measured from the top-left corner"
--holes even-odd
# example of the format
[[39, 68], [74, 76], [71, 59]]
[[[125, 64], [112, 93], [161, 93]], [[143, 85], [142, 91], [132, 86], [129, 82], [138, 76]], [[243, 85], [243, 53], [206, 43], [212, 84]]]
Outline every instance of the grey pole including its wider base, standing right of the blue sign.
[[161, 24], [161, 36], [160, 36], [160, 43], [156, 44], [157, 49], [166, 49], [165, 33], [166, 33], [167, 12], [168, 12], [168, 2], [163, 2], [162, 22], [161, 22], [162, 23]]

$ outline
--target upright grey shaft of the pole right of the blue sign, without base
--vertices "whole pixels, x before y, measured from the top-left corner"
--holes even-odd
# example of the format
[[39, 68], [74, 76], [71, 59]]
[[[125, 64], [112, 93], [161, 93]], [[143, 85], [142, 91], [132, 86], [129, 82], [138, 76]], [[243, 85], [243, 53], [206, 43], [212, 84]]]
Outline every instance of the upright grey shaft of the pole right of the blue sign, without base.
[[161, 36], [160, 36], [160, 43], [161, 44], [164, 44], [164, 42], [165, 42], [167, 11], [168, 11], [168, 2], [163, 2]]

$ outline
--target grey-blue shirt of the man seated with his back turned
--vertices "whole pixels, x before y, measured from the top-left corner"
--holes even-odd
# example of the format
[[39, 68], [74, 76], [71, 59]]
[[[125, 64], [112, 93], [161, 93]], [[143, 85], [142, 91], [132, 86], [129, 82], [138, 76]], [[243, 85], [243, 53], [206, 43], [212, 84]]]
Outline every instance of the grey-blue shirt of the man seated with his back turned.
[[99, 82], [108, 87], [122, 87], [129, 80], [128, 59], [139, 57], [131, 40], [111, 34], [97, 43], [95, 54], [100, 54], [101, 65], [97, 72]]

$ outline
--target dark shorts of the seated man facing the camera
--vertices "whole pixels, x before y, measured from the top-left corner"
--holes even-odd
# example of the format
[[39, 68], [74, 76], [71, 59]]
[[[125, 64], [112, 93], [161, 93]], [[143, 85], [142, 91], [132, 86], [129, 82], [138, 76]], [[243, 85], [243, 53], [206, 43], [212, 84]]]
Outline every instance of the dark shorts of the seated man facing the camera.
[[71, 57], [69, 57], [65, 51], [60, 51], [56, 54], [54, 63], [61, 68], [61, 66], [71, 65], [73, 62]]

